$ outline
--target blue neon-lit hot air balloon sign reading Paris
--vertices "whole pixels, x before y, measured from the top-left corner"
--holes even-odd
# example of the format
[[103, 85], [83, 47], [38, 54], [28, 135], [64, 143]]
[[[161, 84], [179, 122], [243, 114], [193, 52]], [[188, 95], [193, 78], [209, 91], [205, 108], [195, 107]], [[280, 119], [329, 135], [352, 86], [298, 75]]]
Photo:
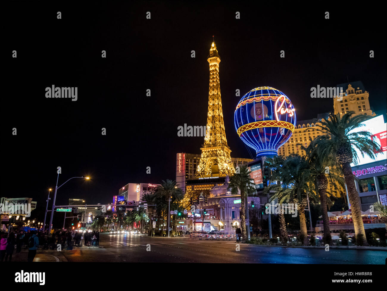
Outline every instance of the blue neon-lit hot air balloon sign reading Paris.
[[234, 113], [240, 139], [260, 156], [276, 156], [296, 128], [296, 109], [288, 96], [272, 87], [247, 92]]

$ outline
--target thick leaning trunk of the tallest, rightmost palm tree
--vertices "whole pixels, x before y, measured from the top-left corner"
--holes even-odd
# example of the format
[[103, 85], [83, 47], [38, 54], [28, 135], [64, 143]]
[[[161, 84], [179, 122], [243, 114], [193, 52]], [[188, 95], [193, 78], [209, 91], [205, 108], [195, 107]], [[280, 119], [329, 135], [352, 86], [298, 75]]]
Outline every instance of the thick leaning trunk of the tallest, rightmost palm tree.
[[355, 187], [352, 168], [349, 162], [342, 164], [342, 171], [344, 174], [345, 183], [347, 184], [348, 198], [349, 203], [351, 204], [352, 220], [355, 229], [356, 241], [358, 240], [358, 237], [360, 235], [362, 236], [363, 245], [368, 246], [364, 231], [363, 218], [361, 218], [359, 194]]

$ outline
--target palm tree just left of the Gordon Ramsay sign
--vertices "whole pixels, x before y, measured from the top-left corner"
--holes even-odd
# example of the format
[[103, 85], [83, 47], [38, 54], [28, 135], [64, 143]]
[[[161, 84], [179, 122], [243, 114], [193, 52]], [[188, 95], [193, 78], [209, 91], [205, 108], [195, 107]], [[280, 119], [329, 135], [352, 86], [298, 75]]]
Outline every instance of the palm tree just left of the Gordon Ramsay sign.
[[[247, 166], [241, 166], [240, 172], [235, 173], [234, 176], [230, 178], [230, 183], [228, 189], [231, 190], [231, 194], [238, 195], [238, 190], [241, 195], [241, 226], [242, 226], [242, 240], [246, 241], [247, 239], [247, 230], [246, 230], [246, 205], [247, 197], [249, 194], [257, 192], [255, 189], [254, 179], [250, 176], [250, 171]], [[250, 230], [249, 230], [250, 231]]]

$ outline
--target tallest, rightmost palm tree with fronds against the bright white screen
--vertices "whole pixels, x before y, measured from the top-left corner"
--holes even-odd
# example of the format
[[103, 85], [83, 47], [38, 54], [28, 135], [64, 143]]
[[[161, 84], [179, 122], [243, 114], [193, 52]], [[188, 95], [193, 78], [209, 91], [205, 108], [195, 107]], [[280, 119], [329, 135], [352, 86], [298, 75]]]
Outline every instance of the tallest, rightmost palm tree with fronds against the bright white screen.
[[[363, 219], [359, 203], [359, 194], [355, 187], [354, 175], [352, 173], [351, 163], [358, 163], [358, 154], [356, 149], [375, 159], [375, 153], [380, 149], [380, 145], [371, 139], [371, 133], [367, 130], [361, 130], [364, 122], [370, 118], [366, 115], [353, 116], [354, 111], [349, 111], [341, 116], [329, 114], [329, 120], [321, 121], [322, 130], [327, 134], [317, 137], [315, 142], [321, 154], [332, 154], [333, 158], [341, 164], [342, 173], [347, 185], [349, 203], [351, 204], [352, 219], [355, 229], [356, 240], [359, 244], [368, 245]], [[356, 131], [359, 130], [359, 131]]]

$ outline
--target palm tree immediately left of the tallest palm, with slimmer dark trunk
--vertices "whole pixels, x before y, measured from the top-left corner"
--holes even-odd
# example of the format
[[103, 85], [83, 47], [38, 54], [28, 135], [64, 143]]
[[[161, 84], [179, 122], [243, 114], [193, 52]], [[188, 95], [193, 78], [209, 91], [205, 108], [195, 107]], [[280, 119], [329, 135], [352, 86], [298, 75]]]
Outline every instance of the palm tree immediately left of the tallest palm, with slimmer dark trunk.
[[327, 197], [328, 178], [335, 188], [336, 183], [334, 183], [334, 181], [337, 181], [344, 188], [344, 179], [339, 176], [339, 165], [337, 164], [336, 159], [333, 159], [331, 154], [328, 156], [325, 152], [321, 152], [320, 147], [317, 146], [317, 142], [312, 141], [308, 147], [304, 147], [301, 144], [301, 149], [306, 152], [307, 161], [309, 163], [309, 185], [311, 187], [314, 185], [315, 192], [320, 195], [322, 221], [324, 226], [324, 244], [330, 245], [332, 237], [330, 236], [327, 209], [327, 200], [329, 199]]

